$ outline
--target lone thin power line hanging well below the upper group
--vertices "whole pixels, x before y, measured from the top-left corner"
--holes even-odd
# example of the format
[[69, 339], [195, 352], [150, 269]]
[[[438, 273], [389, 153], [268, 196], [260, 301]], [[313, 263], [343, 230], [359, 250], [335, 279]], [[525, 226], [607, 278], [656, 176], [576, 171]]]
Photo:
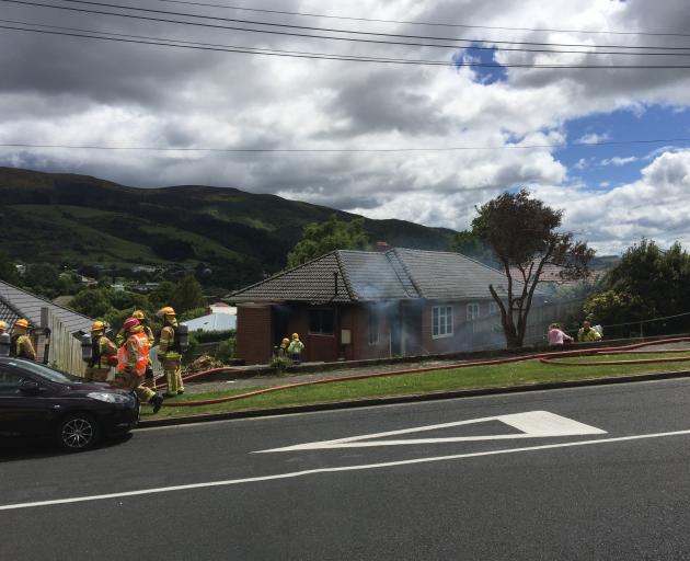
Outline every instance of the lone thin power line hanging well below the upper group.
[[154, 147], [154, 146], [74, 146], [74, 145], [39, 145], [26, 142], [0, 142], [0, 148], [49, 148], [70, 150], [118, 150], [118, 151], [160, 151], [160, 152], [266, 152], [266, 153], [300, 153], [300, 152], [450, 152], [469, 150], [531, 150], [550, 148], [564, 150], [575, 147], [598, 147], [598, 146], [625, 146], [625, 145], [651, 145], [669, 142], [690, 142], [690, 138], [657, 138], [657, 139], [635, 139], [635, 140], [603, 140], [600, 142], [571, 142], [570, 145], [505, 145], [505, 146], [450, 146], [450, 147], [416, 147], [416, 148], [219, 148], [219, 147]]

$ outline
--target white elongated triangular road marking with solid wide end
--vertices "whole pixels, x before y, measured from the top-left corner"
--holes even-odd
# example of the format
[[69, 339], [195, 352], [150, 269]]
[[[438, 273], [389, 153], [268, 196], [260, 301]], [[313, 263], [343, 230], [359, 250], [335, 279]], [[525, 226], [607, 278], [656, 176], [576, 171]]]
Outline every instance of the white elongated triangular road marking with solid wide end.
[[[488, 421], [501, 421], [518, 431], [520, 434], [495, 434], [483, 436], [451, 436], [445, 438], [405, 438], [405, 439], [388, 439], [372, 440], [372, 438], [382, 438], [384, 436], [398, 436], [411, 433], [423, 433], [426, 431], [436, 431], [438, 428], [448, 428], [452, 426], [471, 425], [478, 423], [486, 423]], [[545, 438], [552, 436], [582, 436], [586, 434], [606, 434], [606, 431], [594, 426], [566, 419], [548, 411], [529, 411], [527, 413], [514, 413], [509, 415], [485, 416], [481, 419], [470, 419], [467, 421], [455, 421], [452, 423], [441, 423], [436, 425], [415, 426], [413, 428], [403, 428], [400, 431], [389, 431], [387, 433], [365, 434], [360, 436], [349, 436], [347, 438], [337, 438], [334, 440], [322, 440], [317, 443], [297, 444], [295, 446], [286, 446], [285, 448], [272, 448], [269, 450], [260, 450], [254, 454], [265, 454], [273, 451], [295, 451], [295, 450], [318, 450], [330, 448], [365, 448], [375, 446], [401, 446], [412, 444], [437, 444], [437, 443], [463, 443], [475, 440], [507, 440], [513, 438]]]

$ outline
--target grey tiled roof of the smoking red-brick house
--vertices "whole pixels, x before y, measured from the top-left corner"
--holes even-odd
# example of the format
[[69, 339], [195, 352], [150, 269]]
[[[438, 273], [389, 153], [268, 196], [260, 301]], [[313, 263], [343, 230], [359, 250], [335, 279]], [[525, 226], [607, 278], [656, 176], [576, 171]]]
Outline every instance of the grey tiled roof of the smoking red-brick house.
[[[338, 273], [335, 290], [333, 273]], [[230, 295], [232, 302], [488, 299], [506, 276], [478, 261], [439, 251], [337, 250]]]

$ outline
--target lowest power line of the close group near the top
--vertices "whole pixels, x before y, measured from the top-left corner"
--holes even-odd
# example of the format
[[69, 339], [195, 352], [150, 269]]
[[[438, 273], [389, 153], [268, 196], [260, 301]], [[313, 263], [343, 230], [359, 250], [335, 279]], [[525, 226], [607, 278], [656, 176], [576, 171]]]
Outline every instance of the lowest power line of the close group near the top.
[[[0, 0], [2, 1], [2, 0]], [[39, 33], [46, 35], [61, 35], [69, 37], [79, 37], [88, 39], [110, 41], [116, 43], [133, 43], [139, 45], [154, 45], [162, 47], [187, 48], [194, 50], [210, 50], [216, 53], [239, 53], [249, 55], [277, 56], [288, 58], [307, 58], [319, 60], [342, 60], [355, 62], [378, 62], [392, 65], [416, 65], [416, 66], [437, 66], [437, 67], [470, 67], [470, 68], [522, 68], [522, 69], [549, 69], [549, 70], [688, 70], [690, 65], [538, 65], [538, 64], [497, 64], [497, 62], [475, 62], [475, 61], [444, 61], [444, 60], [424, 60], [424, 59], [406, 59], [406, 58], [386, 58], [386, 57], [366, 57], [355, 55], [329, 55], [321, 53], [302, 53], [278, 49], [267, 49], [258, 47], [223, 47], [211, 46], [212, 44], [198, 44], [194, 42], [183, 42], [182, 39], [163, 39], [163, 41], [141, 41], [134, 38], [119, 38], [112, 36], [87, 35], [83, 33], [68, 33], [49, 30], [35, 30], [28, 27], [14, 27], [11, 25], [0, 25], [0, 30], [22, 31], [30, 33]], [[94, 32], [99, 33], [99, 32]]]

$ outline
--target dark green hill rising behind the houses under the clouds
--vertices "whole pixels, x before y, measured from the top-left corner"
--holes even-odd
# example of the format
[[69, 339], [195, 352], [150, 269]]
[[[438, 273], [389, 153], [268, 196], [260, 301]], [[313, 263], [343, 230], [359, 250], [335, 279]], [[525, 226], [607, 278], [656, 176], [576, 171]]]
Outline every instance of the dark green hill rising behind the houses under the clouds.
[[[181, 185], [137, 188], [87, 175], [0, 168], [2, 249], [26, 263], [207, 264], [219, 286], [235, 288], [285, 265], [303, 226], [357, 215], [254, 195]], [[365, 222], [372, 242], [446, 249], [455, 233], [403, 220]]]

